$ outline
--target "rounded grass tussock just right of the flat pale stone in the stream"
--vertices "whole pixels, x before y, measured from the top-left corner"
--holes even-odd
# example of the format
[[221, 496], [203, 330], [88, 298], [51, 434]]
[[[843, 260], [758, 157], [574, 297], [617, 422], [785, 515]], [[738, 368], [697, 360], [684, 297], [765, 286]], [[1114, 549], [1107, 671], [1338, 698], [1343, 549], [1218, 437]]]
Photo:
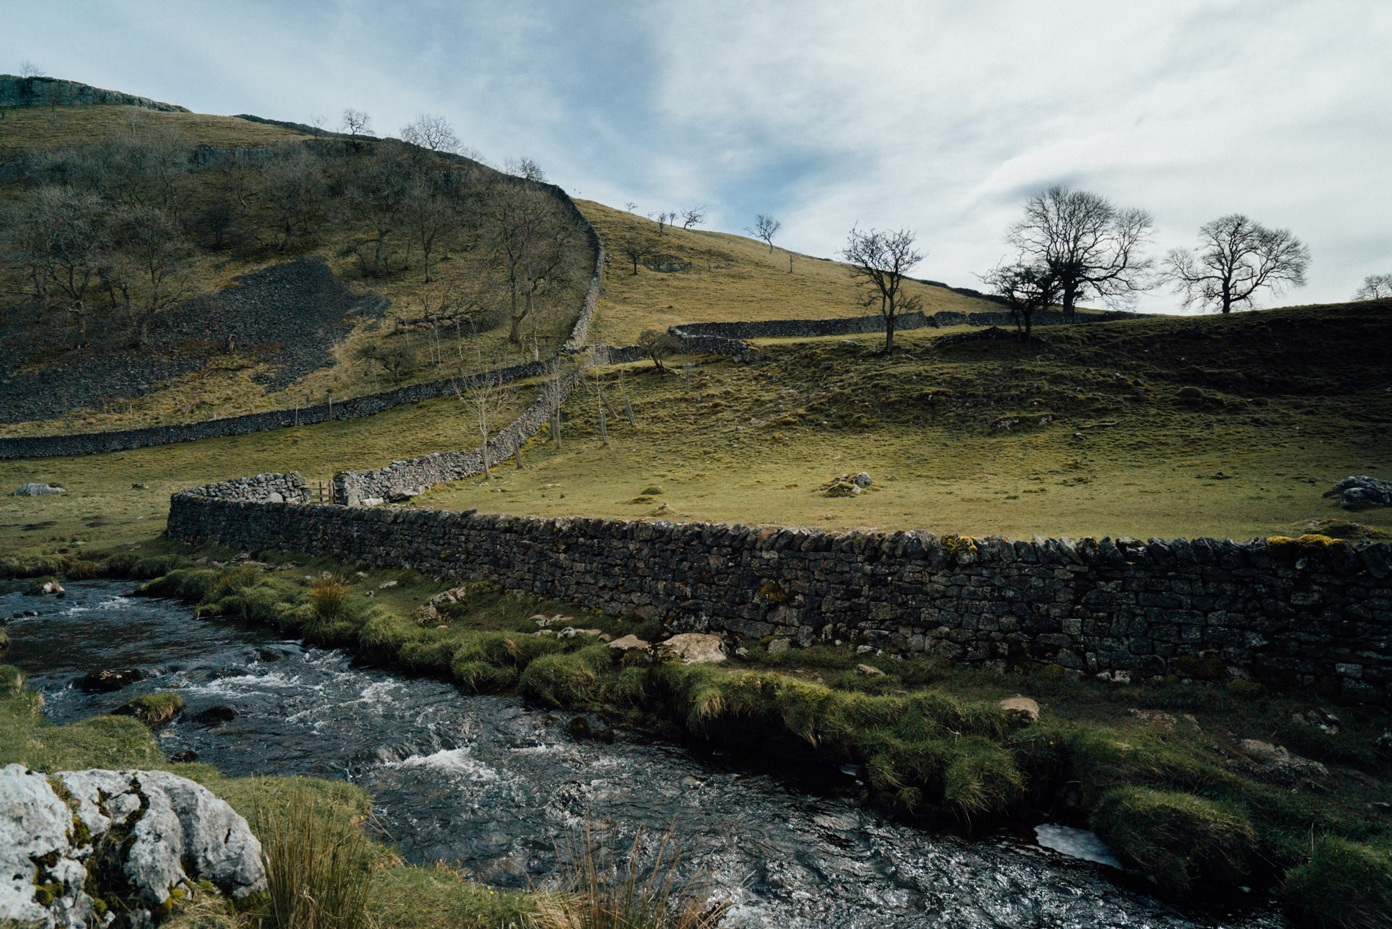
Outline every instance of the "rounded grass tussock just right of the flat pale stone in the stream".
[[1247, 873], [1257, 840], [1235, 804], [1148, 787], [1107, 791], [1089, 822], [1122, 859], [1172, 893], [1236, 882]]

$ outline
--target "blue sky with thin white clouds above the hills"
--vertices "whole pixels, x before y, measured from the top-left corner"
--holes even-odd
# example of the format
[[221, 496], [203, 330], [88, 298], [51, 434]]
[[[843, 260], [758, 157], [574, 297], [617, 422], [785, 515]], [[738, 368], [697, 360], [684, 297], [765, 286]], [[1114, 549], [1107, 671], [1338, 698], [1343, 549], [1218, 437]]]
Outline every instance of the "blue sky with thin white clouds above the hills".
[[[13, 7], [6, 13], [6, 7]], [[1141, 207], [1150, 255], [1244, 213], [1313, 256], [1267, 305], [1392, 273], [1392, 0], [0, 0], [0, 71], [379, 135], [440, 114], [490, 161], [834, 256], [912, 228], [979, 286], [1051, 184]], [[1157, 289], [1137, 309], [1175, 312]]]

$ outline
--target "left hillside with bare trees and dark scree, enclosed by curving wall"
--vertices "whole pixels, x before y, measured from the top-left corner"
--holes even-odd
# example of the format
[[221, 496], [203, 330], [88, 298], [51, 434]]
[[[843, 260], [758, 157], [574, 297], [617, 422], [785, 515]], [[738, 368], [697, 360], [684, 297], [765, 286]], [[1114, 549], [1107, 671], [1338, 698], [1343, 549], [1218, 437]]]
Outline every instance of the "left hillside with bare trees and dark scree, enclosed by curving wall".
[[[593, 268], [564, 193], [459, 156], [135, 106], [0, 115], [4, 434], [291, 409], [530, 359], [569, 334]], [[509, 339], [497, 243], [519, 227], [558, 259]]]

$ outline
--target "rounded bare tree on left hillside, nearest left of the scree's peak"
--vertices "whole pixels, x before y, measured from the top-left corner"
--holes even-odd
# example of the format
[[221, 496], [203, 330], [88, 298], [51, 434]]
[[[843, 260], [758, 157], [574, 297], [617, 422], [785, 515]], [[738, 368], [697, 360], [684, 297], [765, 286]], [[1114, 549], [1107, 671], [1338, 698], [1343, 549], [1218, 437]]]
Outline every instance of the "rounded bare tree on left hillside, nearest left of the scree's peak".
[[111, 228], [114, 249], [102, 267], [102, 284], [131, 320], [136, 345], [149, 341], [150, 323], [188, 289], [184, 260], [192, 249], [174, 218], [157, 206], [122, 207]]

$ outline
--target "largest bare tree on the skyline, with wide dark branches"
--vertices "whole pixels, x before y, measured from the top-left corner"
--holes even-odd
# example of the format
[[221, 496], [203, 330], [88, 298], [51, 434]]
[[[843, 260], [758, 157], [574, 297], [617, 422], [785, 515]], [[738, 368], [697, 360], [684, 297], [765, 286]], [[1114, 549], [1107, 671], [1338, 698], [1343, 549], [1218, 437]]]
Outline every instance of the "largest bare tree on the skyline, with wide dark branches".
[[1080, 299], [1128, 303], [1153, 286], [1154, 263], [1140, 255], [1153, 224], [1144, 210], [1054, 185], [1025, 203], [1025, 218], [1006, 241], [1019, 249], [1019, 264], [1043, 263], [1057, 278], [1063, 316], [1072, 320]]

